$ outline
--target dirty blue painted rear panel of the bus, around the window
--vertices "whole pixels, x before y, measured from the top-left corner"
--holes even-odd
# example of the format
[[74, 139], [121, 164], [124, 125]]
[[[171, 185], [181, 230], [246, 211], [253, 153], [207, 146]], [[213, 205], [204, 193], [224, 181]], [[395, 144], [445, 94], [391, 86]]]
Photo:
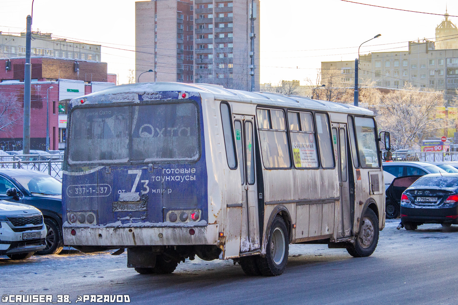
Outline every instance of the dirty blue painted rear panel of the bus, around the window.
[[[151, 95], [138, 95], [139, 101], [176, 102], [182, 92], [158, 92], [154, 99]], [[68, 145], [65, 149], [62, 208], [63, 220], [67, 221], [72, 212], [93, 212], [97, 225], [136, 223], [152, 225], [162, 223], [169, 210], [201, 211], [201, 219], [208, 221], [207, 203], [207, 166], [205, 158], [205, 139], [200, 95], [188, 92], [188, 100], [196, 102], [200, 129], [200, 158], [191, 163], [144, 162], [135, 165], [103, 164], [100, 166], [74, 166], [67, 163]], [[183, 100], [181, 100], [183, 101]], [[109, 103], [103, 100], [100, 103]], [[140, 102], [139, 105], [142, 105]], [[71, 115], [69, 115], [67, 134], [71, 141]], [[71, 142], [69, 143], [71, 146]], [[153, 166], [148, 166], [152, 164]], [[141, 171], [135, 190], [132, 186], [136, 173]], [[70, 172], [70, 173], [67, 173]], [[145, 186], [146, 185], [146, 186]], [[136, 192], [141, 202], [120, 202], [120, 194]], [[143, 191], [143, 193], [142, 193]], [[77, 225], [78, 220], [74, 223]], [[148, 223], [148, 224], [142, 224]]]

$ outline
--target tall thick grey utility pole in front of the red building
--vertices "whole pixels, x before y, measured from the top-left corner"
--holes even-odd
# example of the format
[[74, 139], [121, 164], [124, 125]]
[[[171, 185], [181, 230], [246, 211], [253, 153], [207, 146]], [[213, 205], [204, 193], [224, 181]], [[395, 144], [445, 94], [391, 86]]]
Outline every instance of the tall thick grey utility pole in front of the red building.
[[32, 82], [32, 64], [30, 51], [32, 43], [32, 17], [27, 16], [26, 63], [24, 65], [24, 129], [22, 134], [22, 153], [30, 153], [30, 87]]

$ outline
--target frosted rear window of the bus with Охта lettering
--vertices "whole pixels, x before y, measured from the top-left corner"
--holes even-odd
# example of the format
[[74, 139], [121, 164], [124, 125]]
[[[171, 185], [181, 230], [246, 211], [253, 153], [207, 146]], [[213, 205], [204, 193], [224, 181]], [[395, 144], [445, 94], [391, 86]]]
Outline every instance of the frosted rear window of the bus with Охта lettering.
[[194, 161], [199, 158], [193, 103], [75, 109], [70, 161]]

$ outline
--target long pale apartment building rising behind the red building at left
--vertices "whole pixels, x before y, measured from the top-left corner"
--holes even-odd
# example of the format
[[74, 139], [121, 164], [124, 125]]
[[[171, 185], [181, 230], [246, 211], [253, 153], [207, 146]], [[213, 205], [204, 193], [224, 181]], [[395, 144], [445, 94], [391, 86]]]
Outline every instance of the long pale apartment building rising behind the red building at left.
[[[101, 46], [55, 39], [51, 33], [32, 33], [32, 56], [54, 57], [61, 59], [77, 59], [101, 61]], [[26, 33], [13, 35], [0, 32], [0, 57], [13, 58], [26, 54]]]

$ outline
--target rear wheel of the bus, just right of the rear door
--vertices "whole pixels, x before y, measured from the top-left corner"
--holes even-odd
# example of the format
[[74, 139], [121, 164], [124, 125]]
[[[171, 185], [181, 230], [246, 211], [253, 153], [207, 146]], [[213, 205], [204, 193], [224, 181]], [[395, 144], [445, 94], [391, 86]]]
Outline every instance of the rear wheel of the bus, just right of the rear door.
[[266, 256], [256, 256], [256, 263], [262, 275], [277, 276], [286, 268], [289, 253], [288, 229], [283, 218], [273, 219], [268, 236]]

